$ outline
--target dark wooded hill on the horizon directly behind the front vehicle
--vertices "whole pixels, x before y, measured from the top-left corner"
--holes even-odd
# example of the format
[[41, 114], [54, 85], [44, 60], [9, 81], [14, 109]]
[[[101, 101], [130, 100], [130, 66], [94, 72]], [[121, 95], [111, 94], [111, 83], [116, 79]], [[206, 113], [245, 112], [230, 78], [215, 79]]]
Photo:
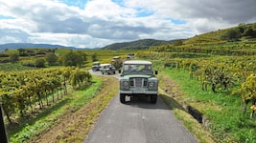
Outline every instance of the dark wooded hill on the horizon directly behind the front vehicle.
[[114, 43], [107, 45], [102, 50], [147, 50], [151, 46], [159, 46], [164, 44], [170, 44], [174, 41], [154, 40], [154, 39], [142, 39], [131, 42]]

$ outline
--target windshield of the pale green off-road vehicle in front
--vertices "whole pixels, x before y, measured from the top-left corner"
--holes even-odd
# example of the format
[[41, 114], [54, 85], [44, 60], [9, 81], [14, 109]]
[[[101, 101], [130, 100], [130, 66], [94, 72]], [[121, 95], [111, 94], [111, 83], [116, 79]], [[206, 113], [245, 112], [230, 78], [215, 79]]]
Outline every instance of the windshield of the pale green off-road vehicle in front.
[[151, 72], [152, 73], [152, 67], [151, 65], [145, 65], [145, 64], [127, 64], [123, 66], [123, 72]]

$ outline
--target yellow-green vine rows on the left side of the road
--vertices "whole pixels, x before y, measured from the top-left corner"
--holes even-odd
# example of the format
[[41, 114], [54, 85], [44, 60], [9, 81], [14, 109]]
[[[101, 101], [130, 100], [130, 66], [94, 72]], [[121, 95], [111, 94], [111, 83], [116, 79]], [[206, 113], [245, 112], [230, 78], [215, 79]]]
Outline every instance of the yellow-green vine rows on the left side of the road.
[[[16, 115], [33, 114], [36, 105], [43, 109], [73, 89], [91, 83], [91, 74], [78, 68], [41, 69], [23, 72], [0, 72], [0, 102], [8, 121]], [[57, 99], [56, 99], [57, 94]]]

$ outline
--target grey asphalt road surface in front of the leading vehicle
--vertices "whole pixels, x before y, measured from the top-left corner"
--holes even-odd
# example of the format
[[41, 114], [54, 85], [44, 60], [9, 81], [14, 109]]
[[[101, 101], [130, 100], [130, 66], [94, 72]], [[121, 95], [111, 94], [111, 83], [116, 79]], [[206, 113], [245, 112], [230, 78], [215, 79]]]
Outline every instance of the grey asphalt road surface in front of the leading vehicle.
[[156, 104], [151, 104], [146, 97], [127, 97], [127, 101], [126, 104], [120, 103], [119, 95], [116, 95], [84, 143], [198, 142], [161, 98], [158, 97]]

